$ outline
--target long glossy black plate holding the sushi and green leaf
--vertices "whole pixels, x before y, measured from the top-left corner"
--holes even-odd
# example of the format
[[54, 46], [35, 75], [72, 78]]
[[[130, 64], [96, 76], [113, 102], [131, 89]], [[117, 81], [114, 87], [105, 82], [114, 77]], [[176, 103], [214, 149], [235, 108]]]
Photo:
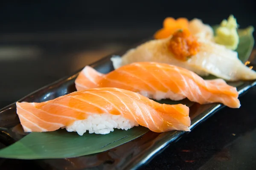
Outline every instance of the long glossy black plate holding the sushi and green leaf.
[[[122, 53], [119, 55], [121, 54]], [[113, 70], [110, 58], [111, 56], [105, 57], [91, 64], [91, 66], [96, 68], [99, 72], [108, 73]], [[251, 61], [251, 65], [256, 65], [254, 56], [251, 56], [249, 60]], [[44, 102], [76, 91], [74, 81], [77, 75], [78, 73], [47, 85], [23, 99], [20, 99], [20, 102]], [[235, 83], [234, 85], [239, 85], [237, 87], [239, 96], [256, 85], [256, 81], [233, 83]], [[203, 122], [223, 107], [224, 106], [221, 104], [199, 105], [195, 103], [190, 107], [189, 116], [192, 119], [190, 129], [192, 130], [196, 125]], [[154, 133], [149, 131], [131, 142], [102, 153], [72, 159], [41, 159], [35, 160], [35, 162], [47, 170], [136, 169], [152, 159], [156, 153], [163, 150], [170, 142], [177, 141], [184, 133], [188, 132], [171, 131], [166, 133]], [[4, 147], [4, 145], [8, 146], [25, 135], [26, 133], [23, 133], [19, 118], [16, 114], [15, 103], [0, 110], [0, 147]]]

